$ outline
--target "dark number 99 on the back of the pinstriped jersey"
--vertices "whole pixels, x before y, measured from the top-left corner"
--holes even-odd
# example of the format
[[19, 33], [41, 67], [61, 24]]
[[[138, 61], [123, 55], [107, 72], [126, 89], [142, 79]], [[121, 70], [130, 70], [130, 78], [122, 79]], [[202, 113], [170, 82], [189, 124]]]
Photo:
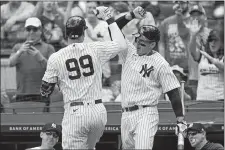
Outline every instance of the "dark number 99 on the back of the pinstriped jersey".
[[[86, 64], [84, 63], [84, 60], [87, 60]], [[89, 68], [88, 72], [82, 72], [84, 77], [88, 77], [94, 74], [94, 67], [93, 67], [92, 58], [90, 55], [81, 56], [79, 58], [79, 62], [76, 58], [71, 58], [66, 60], [66, 68], [69, 72], [76, 72], [76, 75], [69, 75], [70, 80], [76, 80], [81, 77], [81, 70], [78, 63], [83, 69]]]

